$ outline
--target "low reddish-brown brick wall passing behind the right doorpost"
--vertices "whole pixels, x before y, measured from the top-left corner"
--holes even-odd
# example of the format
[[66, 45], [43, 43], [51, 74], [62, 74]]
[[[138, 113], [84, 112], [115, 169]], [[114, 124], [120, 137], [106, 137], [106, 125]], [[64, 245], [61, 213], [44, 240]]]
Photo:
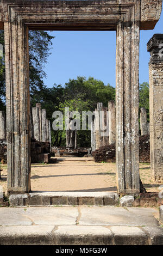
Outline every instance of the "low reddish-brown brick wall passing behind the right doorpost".
[[[95, 162], [115, 162], [115, 144], [103, 146], [92, 153]], [[150, 163], [149, 135], [139, 137], [139, 161]]]

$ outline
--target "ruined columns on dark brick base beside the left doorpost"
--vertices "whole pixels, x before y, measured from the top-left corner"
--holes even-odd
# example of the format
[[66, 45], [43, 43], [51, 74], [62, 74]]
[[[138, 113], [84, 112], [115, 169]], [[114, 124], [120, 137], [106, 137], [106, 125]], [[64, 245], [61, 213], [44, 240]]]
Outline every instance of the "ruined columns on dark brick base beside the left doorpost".
[[[40, 129], [41, 127], [41, 129]], [[46, 109], [36, 103], [30, 111], [30, 155], [31, 163], [48, 163], [51, 161], [51, 125], [46, 118]], [[7, 163], [6, 117], [0, 111], [0, 162]]]

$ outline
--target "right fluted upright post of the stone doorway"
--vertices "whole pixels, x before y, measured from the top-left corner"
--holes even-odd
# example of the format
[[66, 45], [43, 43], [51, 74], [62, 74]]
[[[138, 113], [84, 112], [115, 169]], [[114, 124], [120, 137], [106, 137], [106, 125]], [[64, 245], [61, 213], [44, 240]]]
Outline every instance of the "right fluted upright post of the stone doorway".
[[123, 19], [116, 44], [116, 175], [118, 192], [129, 194], [140, 192], [139, 22]]

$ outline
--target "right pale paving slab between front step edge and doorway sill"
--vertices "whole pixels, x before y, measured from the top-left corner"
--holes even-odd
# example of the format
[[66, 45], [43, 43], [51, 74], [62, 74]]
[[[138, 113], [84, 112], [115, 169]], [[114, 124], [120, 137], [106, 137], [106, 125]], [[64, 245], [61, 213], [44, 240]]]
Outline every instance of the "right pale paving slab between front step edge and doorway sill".
[[145, 208], [80, 207], [80, 225], [158, 225], [158, 210]]

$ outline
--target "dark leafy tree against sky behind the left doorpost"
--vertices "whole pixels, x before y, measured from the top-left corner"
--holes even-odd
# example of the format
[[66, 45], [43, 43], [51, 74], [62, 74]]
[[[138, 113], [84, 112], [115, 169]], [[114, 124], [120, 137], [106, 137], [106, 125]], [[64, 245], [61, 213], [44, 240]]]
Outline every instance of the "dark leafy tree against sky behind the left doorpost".
[[[43, 70], [47, 57], [51, 54], [52, 39], [54, 36], [45, 31], [29, 31], [29, 86], [33, 96], [37, 90], [42, 90], [45, 85]], [[4, 31], [0, 31], [0, 44], [4, 48]], [[5, 109], [5, 63], [4, 56], [0, 57], [0, 109]]]

